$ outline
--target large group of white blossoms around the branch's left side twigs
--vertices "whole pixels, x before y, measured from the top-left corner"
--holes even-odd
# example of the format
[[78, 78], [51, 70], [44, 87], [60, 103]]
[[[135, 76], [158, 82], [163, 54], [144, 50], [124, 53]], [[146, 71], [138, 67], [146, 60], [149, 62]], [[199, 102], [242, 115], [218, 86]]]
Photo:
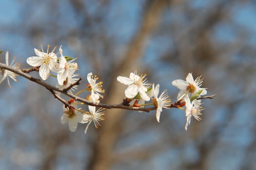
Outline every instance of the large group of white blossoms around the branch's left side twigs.
[[[37, 56], [27, 58], [27, 63], [30, 66], [39, 67], [39, 76], [42, 78], [42, 80], [46, 80], [49, 75], [52, 75], [50, 74], [50, 71], [57, 73], [58, 84], [56, 86], [59, 88], [66, 88], [77, 82], [77, 76], [79, 75], [74, 74], [75, 71], [78, 69], [78, 64], [74, 62], [74, 60], [76, 60], [77, 58], [71, 59], [69, 62], [67, 62], [67, 58], [70, 58], [67, 56], [63, 56], [61, 46], [59, 47], [59, 53], [54, 53], [56, 47], [53, 49], [53, 51], [49, 52], [49, 47], [50, 46], [48, 46], [47, 52], [44, 52], [42, 48], [42, 51], [34, 49]], [[58, 54], [60, 54], [59, 58]], [[92, 73], [89, 73], [87, 75], [87, 80], [89, 83], [87, 85], [88, 88], [79, 91], [77, 95], [87, 90], [91, 92], [91, 94], [87, 96], [87, 100], [91, 102], [99, 102], [99, 97], [103, 98], [100, 93], [104, 93], [104, 90], [102, 90], [102, 82], [96, 83], [98, 77], [93, 76]], [[74, 91], [75, 89], [77, 89], [77, 85], [74, 85], [71, 89]], [[100, 125], [99, 121], [104, 119], [103, 108], [99, 108], [96, 111], [95, 106], [89, 105], [88, 112], [86, 110], [82, 110], [81, 108], [77, 108], [78, 104], [83, 105], [84, 103], [77, 103], [74, 99], [71, 99], [69, 100], [69, 104], [69, 107], [63, 106], [64, 114], [61, 117], [61, 123], [64, 124], [68, 122], [69, 129], [72, 132], [76, 131], [78, 123], [87, 123], [84, 131], [84, 133], [86, 134], [88, 126], [91, 124], [92, 121], [94, 121], [95, 127], [98, 128], [98, 126]]]

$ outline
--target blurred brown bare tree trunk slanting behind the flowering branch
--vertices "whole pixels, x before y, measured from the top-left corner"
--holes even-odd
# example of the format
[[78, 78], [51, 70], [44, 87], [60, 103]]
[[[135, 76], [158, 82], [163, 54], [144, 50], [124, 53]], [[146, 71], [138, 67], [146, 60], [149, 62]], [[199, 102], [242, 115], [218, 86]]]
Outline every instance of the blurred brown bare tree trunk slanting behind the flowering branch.
[[[109, 95], [105, 101], [107, 103], [120, 103], [124, 97], [124, 86], [120, 85], [117, 81], [118, 75], [129, 75], [131, 69], [139, 67], [139, 60], [142, 57], [146, 45], [146, 39], [157, 28], [160, 14], [163, 7], [166, 6], [165, 0], [148, 0], [143, 18], [141, 19], [141, 25], [134, 35], [127, 51], [124, 53], [124, 59], [121, 65], [119, 65], [112, 72], [113, 74], [111, 87], [109, 88]], [[131, 68], [133, 67], [133, 68]], [[117, 141], [119, 134], [119, 127], [123, 112], [118, 109], [106, 110], [105, 121], [102, 122], [102, 126], [98, 133], [98, 140], [95, 144], [91, 163], [89, 165], [90, 170], [107, 170], [112, 164], [113, 148]]]

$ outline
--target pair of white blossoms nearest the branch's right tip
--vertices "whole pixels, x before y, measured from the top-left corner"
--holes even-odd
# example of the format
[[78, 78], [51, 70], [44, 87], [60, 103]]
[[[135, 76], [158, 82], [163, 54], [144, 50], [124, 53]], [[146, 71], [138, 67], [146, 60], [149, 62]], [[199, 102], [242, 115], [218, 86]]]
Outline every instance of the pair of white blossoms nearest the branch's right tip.
[[206, 95], [207, 91], [205, 88], [200, 88], [203, 81], [201, 76], [197, 77], [194, 80], [192, 73], [189, 73], [184, 80], [174, 80], [172, 85], [176, 86], [179, 89], [177, 100], [184, 99], [186, 102], [186, 117], [187, 122], [185, 124], [185, 130], [187, 130], [188, 125], [190, 125], [191, 117], [200, 120], [200, 115], [203, 107], [201, 106], [201, 100], [197, 100], [201, 95]]

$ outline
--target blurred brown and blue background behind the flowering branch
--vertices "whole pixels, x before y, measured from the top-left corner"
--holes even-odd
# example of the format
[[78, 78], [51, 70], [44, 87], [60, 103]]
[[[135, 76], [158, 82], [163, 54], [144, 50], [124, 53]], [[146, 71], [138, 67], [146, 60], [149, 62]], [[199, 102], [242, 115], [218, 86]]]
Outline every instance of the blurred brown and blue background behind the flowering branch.
[[72, 133], [60, 123], [62, 104], [44, 87], [4, 81], [1, 170], [256, 170], [255, 0], [0, 0], [0, 62], [9, 51], [29, 68], [40, 44], [78, 57], [79, 89], [98, 75], [104, 103], [122, 102], [116, 78], [135, 68], [173, 102], [171, 82], [189, 72], [217, 97], [187, 132], [180, 109], [163, 110], [160, 123], [155, 111], [110, 109], [84, 135], [84, 124]]

